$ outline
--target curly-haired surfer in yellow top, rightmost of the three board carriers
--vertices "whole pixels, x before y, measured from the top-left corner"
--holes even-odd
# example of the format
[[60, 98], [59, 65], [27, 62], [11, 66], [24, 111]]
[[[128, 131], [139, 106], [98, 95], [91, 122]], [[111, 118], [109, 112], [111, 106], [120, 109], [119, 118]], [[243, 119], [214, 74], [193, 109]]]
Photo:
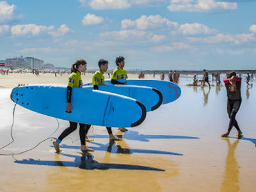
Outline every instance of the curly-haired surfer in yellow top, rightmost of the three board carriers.
[[[117, 68], [114, 70], [112, 77], [111, 77], [112, 84], [127, 84], [127, 81], [125, 81], [125, 83], [121, 83], [121, 82], [117, 81], [117, 79], [128, 79], [127, 71], [124, 69], [124, 64], [125, 64], [124, 57], [119, 56], [118, 58], [116, 58]], [[128, 131], [124, 127], [120, 127], [118, 129], [122, 132]]]

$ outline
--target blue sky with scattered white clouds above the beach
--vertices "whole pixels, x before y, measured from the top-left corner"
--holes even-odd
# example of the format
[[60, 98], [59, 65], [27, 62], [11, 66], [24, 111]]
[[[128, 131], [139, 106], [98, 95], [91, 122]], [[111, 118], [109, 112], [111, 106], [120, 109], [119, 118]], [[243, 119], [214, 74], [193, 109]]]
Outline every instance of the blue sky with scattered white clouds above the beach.
[[0, 0], [0, 60], [144, 70], [256, 69], [256, 0]]

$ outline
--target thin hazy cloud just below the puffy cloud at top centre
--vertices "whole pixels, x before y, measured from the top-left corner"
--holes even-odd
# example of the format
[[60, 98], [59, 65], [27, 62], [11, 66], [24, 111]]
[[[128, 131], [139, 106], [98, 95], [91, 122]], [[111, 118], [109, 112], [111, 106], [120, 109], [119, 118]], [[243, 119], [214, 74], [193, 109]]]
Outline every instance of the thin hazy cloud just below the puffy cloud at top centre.
[[146, 35], [147, 33], [145, 31], [135, 30], [110, 31], [100, 34], [100, 36], [103, 38], [115, 38], [117, 40], [131, 40], [145, 37]]

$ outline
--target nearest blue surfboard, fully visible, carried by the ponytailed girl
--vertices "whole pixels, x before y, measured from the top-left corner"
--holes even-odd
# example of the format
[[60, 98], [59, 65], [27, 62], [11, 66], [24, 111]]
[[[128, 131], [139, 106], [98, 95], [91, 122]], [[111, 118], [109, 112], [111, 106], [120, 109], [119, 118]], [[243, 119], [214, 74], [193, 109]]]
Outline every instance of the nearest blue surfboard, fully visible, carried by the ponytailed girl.
[[140, 125], [147, 113], [145, 106], [138, 100], [84, 88], [72, 88], [72, 113], [67, 113], [67, 86], [20, 86], [13, 88], [11, 99], [37, 113], [106, 127]]

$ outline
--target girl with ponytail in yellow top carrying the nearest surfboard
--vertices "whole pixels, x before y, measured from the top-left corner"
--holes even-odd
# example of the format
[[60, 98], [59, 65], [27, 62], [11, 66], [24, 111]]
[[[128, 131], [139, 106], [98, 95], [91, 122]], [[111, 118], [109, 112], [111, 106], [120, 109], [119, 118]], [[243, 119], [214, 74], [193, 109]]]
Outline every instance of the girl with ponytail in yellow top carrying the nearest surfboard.
[[[71, 110], [72, 110], [72, 105], [71, 105], [72, 88], [73, 87], [81, 88], [83, 86], [81, 73], [86, 71], [86, 65], [87, 65], [86, 61], [79, 59], [71, 67], [71, 74], [68, 77], [68, 86], [67, 86], [67, 108], [66, 108], [67, 113], [71, 113]], [[77, 128], [76, 122], [69, 122], [69, 124], [70, 124], [70, 127], [65, 129], [60, 134], [60, 136], [56, 141], [52, 142], [57, 153], [60, 153], [61, 141], [65, 137], [67, 137], [70, 133], [74, 132]], [[81, 150], [93, 151], [90, 148], [86, 148], [86, 145], [85, 145], [85, 137], [86, 137], [86, 130], [84, 129], [86, 128], [85, 124], [79, 124], [79, 125], [80, 125], [79, 136], [80, 136], [80, 142], [81, 142]]]

